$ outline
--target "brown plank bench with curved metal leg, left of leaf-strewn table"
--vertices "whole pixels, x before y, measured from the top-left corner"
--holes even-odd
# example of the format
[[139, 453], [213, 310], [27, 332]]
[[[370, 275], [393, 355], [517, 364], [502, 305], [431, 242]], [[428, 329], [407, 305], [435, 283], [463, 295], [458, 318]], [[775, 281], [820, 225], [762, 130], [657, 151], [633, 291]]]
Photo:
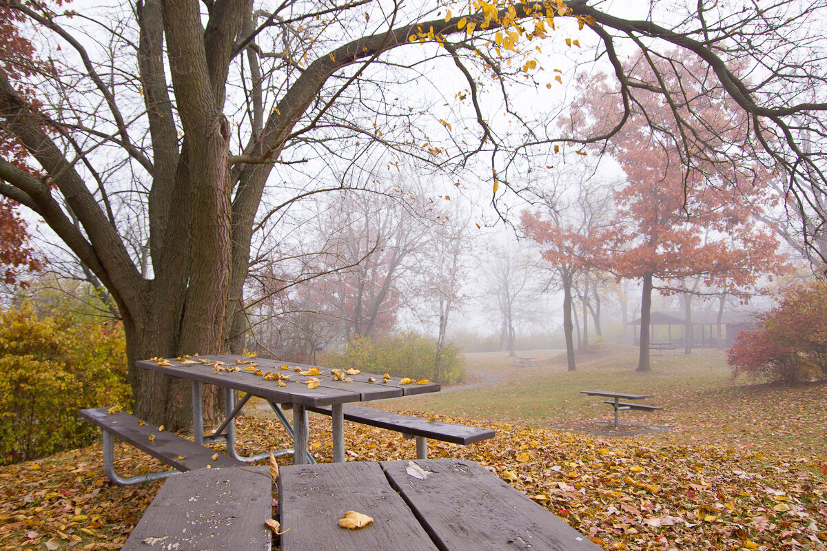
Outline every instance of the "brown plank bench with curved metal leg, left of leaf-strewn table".
[[[146, 482], [176, 472], [207, 468], [208, 465], [210, 468], [246, 465], [243, 461], [238, 461], [225, 454], [218, 454], [218, 458], [213, 459], [217, 454], [213, 449], [195, 444], [192, 440], [185, 439], [167, 430], [159, 431], [157, 426], [150, 423], [145, 422], [141, 425], [137, 417], [123, 411], [108, 413], [108, 409], [107, 407], [95, 407], [80, 410], [78, 413], [84, 419], [98, 425], [103, 431], [103, 468], [109, 479], [120, 486]], [[112, 436], [117, 436], [127, 444], [141, 449], [146, 454], [150, 454], [176, 470], [167, 471], [166, 473], [153, 473], [151, 476], [143, 477], [118, 477], [112, 467]], [[151, 436], [152, 439], [150, 439]]]

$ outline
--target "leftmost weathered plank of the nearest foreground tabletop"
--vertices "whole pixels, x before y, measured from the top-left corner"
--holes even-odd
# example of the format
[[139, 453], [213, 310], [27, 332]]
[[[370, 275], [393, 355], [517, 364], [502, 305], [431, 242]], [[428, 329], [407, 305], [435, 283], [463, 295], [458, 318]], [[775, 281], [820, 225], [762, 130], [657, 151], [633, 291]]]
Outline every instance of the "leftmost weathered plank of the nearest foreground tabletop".
[[269, 551], [267, 467], [189, 471], [164, 482], [122, 551]]

